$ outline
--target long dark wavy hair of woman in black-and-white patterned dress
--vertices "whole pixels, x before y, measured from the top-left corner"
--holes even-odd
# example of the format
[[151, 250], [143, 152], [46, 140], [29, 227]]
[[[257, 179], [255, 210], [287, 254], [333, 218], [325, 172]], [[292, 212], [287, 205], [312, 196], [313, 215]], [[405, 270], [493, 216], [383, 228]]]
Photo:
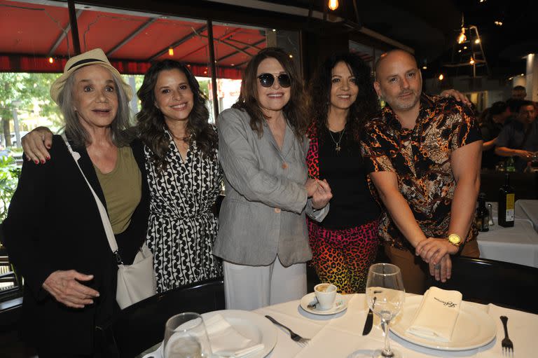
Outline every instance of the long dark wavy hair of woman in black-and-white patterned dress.
[[193, 91], [193, 109], [188, 116], [187, 135], [189, 146], [196, 141], [198, 149], [204, 156], [212, 156], [218, 146], [218, 137], [212, 125], [209, 124], [207, 97], [200, 90], [200, 84], [192, 72], [184, 64], [174, 60], [156, 62], [146, 72], [144, 82], [137, 94], [142, 102], [142, 110], [137, 113], [137, 131], [142, 142], [153, 152], [153, 160], [163, 170], [166, 167], [166, 154], [170, 139], [165, 134], [167, 125], [163, 113], [156, 107], [155, 86], [162, 71], [178, 69], [187, 78], [188, 86]]

